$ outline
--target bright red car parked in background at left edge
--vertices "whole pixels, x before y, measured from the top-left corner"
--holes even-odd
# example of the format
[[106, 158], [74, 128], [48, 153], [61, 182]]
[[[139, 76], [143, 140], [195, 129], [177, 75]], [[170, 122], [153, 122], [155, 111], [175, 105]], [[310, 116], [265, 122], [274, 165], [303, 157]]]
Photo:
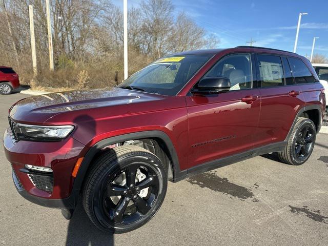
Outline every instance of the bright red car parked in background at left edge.
[[12, 90], [18, 87], [18, 74], [10, 67], [0, 66], [0, 93], [2, 95], [9, 95]]

